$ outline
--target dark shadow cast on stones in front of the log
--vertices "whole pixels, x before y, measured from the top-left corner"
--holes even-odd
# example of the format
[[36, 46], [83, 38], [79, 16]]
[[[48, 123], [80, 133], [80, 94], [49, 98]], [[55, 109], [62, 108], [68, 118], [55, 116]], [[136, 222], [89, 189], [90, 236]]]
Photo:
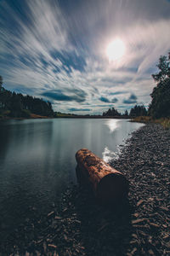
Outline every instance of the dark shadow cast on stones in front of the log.
[[126, 255], [132, 235], [133, 207], [128, 200], [112, 207], [96, 204], [93, 194], [79, 188], [75, 207], [81, 220], [82, 244], [86, 255]]

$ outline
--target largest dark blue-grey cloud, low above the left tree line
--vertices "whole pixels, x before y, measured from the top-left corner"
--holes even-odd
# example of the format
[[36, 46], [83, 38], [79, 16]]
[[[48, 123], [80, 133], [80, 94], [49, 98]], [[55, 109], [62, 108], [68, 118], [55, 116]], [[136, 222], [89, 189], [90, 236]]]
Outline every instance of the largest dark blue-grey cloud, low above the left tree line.
[[65, 95], [59, 90], [56, 91], [46, 91], [42, 93], [42, 96], [46, 96], [54, 101], [60, 102], [85, 102], [86, 100], [86, 93], [82, 91], [78, 91], [77, 94], [73, 95]]

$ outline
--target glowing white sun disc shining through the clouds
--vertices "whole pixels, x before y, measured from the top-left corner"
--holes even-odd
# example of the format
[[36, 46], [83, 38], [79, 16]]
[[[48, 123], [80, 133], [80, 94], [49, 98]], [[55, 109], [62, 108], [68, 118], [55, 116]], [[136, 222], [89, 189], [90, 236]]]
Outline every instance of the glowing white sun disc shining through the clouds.
[[121, 39], [115, 39], [112, 41], [106, 49], [106, 55], [110, 61], [116, 61], [122, 57], [125, 53], [125, 44]]

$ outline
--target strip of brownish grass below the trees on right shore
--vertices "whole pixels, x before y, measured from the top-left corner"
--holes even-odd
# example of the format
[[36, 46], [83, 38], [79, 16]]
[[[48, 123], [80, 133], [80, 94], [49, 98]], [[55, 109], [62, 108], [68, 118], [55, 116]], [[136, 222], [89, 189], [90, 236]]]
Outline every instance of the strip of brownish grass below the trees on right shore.
[[166, 129], [170, 129], [170, 119], [169, 118], [161, 118], [161, 119], [152, 119], [150, 116], [139, 116], [132, 119], [132, 122], [140, 122], [140, 123], [156, 123], [162, 125]]

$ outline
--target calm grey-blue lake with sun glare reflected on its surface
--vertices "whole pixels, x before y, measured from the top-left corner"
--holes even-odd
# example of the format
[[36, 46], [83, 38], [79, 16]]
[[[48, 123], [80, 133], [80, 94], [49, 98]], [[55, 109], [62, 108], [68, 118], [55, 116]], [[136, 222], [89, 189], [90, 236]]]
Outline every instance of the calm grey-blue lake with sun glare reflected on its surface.
[[140, 126], [127, 119], [0, 122], [0, 228], [11, 230], [32, 207], [48, 211], [69, 183], [77, 183], [78, 149], [108, 161]]

